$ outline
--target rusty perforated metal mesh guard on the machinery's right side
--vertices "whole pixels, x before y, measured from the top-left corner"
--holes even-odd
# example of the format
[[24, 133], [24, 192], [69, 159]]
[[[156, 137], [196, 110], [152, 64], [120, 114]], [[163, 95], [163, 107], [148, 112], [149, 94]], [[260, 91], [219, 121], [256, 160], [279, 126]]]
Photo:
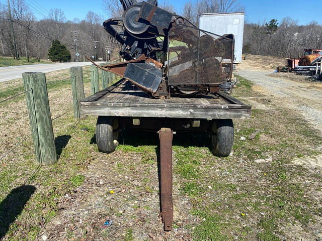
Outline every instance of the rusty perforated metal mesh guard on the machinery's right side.
[[232, 39], [178, 24], [169, 33], [169, 84], [224, 82], [232, 71]]

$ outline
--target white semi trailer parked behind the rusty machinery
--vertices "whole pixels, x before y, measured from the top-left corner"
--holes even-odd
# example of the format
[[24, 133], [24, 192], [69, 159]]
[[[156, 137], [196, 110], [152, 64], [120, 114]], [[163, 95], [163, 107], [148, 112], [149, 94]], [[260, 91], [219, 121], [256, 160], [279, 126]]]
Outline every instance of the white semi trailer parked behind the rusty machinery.
[[241, 62], [243, 54], [245, 13], [221, 13], [199, 15], [199, 29], [218, 35], [233, 34], [235, 37], [234, 63]]

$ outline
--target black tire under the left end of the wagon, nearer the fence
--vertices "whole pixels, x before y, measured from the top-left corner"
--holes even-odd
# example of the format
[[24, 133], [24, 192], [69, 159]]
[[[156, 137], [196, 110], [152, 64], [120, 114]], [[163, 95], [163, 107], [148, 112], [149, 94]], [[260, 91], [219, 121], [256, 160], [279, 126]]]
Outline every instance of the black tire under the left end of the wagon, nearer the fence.
[[118, 146], [119, 122], [117, 117], [99, 116], [96, 123], [96, 143], [100, 152], [114, 152]]

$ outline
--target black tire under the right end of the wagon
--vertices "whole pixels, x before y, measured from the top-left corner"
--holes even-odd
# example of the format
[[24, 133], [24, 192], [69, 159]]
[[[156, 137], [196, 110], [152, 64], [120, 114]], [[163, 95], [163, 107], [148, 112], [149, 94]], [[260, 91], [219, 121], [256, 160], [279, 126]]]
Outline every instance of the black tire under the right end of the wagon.
[[233, 146], [233, 123], [231, 119], [217, 119], [212, 123], [210, 145], [213, 155], [227, 157]]

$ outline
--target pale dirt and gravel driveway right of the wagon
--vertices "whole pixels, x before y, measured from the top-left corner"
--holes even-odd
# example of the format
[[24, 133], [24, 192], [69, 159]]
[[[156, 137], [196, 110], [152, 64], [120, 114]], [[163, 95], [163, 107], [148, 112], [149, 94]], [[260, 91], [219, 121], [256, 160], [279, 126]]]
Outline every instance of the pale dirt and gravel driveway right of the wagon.
[[[256, 62], [274, 60], [277, 60], [275, 65], [281, 64], [282, 59], [277, 57], [267, 60], [264, 56], [249, 56], [238, 65], [236, 74], [254, 82], [256, 85], [253, 89], [257, 92], [269, 95], [277, 104], [297, 111], [317, 132], [322, 132], [322, 83], [309, 81], [306, 76], [294, 73], [274, 73], [273, 70], [267, 70], [265, 65], [254, 68]], [[256, 105], [256, 102], [250, 101]], [[322, 156], [316, 156], [313, 160], [305, 157], [294, 160], [294, 163], [322, 166]]]

